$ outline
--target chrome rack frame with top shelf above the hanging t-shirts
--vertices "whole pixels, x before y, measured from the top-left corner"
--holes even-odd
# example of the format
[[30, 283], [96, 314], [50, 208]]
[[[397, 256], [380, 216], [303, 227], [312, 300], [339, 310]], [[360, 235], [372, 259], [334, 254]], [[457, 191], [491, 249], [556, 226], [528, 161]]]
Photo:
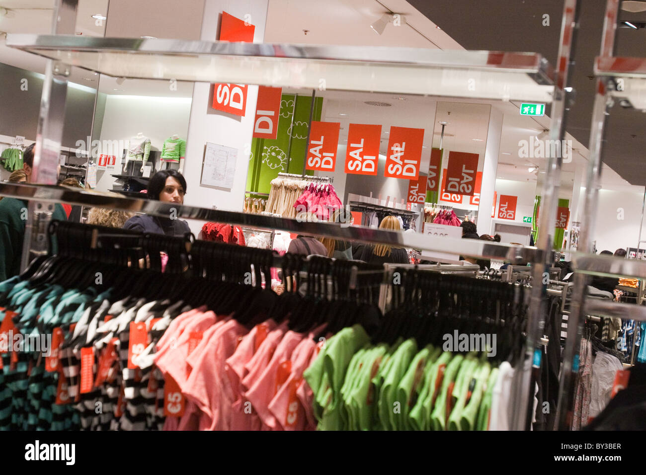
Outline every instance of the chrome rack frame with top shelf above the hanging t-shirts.
[[[175, 79], [218, 83], [262, 84], [317, 89], [326, 78], [326, 89], [360, 90], [486, 100], [531, 100], [552, 103], [550, 140], [565, 138], [565, 118], [578, 25], [579, 3], [566, 0], [559, 43], [558, 65], [553, 69], [534, 53], [492, 51], [443, 51], [421, 48], [337, 47], [268, 45], [182, 41], [171, 39], [128, 39], [74, 35], [78, 0], [57, 0], [52, 35], [10, 34], [6, 45], [48, 59], [43, 100], [36, 138], [34, 173], [52, 173], [52, 150], [60, 145], [65, 117], [65, 94], [70, 68], [81, 67], [113, 77]], [[65, 34], [65, 35], [61, 35]], [[467, 86], [468, 74], [479, 77], [477, 91]], [[406, 81], [402, 81], [402, 76]], [[56, 154], [57, 157], [57, 154]], [[30, 200], [30, 216], [54, 202], [142, 211], [178, 218], [229, 222], [247, 227], [271, 228], [373, 244], [460, 253], [488, 259], [520, 260], [534, 264], [534, 282], [552, 262], [552, 234], [556, 219], [561, 158], [550, 158], [541, 200], [541, 234], [537, 248], [508, 246], [478, 240], [435, 239], [418, 233], [397, 233], [364, 227], [340, 227], [323, 222], [298, 222], [274, 216], [247, 215], [190, 206], [172, 206], [140, 198], [116, 198], [81, 191], [38, 185], [1, 184], [0, 195]], [[45, 183], [51, 183], [46, 181]], [[36, 202], [37, 200], [37, 202]], [[50, 211], [53, 206], [50, 206]], [[39, 213], [30, 223], [34, 239], [26, 239], [23, 267], [30, 257], [43, 251], [43, 230], [51, 213]], [[30, 237], [31, 229], [26, 231]], [[539, 329], [547, 315], [545, 286], [532, 288], [526, 352], [519, 362], [512, 427], [528, 428], [530, 420], [530, 370], [539, 345]]]

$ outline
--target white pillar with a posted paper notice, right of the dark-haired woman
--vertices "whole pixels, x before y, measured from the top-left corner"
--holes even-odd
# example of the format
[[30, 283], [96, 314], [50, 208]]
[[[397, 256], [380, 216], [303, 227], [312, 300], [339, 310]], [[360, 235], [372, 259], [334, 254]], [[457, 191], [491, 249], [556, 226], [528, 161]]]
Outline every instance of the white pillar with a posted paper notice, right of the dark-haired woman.
[[[214, 41], [218, 37], [219, 15], [225, 12], [244, 19], [251, 15], [251, 23], [255, 25], [254, 42], [262, 43], [265, 34], [268, 0], [251, 0], [249, 2], [207, 0], [202, 20], [203, 41]], [[186, 195], [185, 204], [190, 206], [212, 207], [242, 211], [244, 192], [247, 184], [247, 168], [249, 167], [249, 150], [251, 150], [251, 134], [256, 112], [258, 87], [249, 85], [247, 91], [247, 109], [242, 118], [214, 111], [210, 107], [212, 86], [209, 83], [195, 83], [193, 88], [193, 107], [191, 108], [191, 125], [187, 140], [186, 164], [184, 175], [191, 191]], [[206, 142], [225, 145], [238, 149], [236, 171], [233, 187], [230, 190], [203, 187], [200, 185], [202, 174], [202, 158]], [[247, 153], [245, 154], [245, 148]], [[191, 230], [198, 235], [199, 229], [194, 229], [199, 223], [191, 224]]]

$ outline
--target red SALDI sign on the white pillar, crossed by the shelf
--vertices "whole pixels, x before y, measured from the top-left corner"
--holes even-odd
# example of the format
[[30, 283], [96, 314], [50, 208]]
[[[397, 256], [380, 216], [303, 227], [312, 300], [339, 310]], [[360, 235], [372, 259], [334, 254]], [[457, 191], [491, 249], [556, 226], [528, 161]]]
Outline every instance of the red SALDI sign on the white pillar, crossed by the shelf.
[[[244, 41], [251, 43], [253, 42], [255, 30], [256, 27], [254, 25], [229, 15], [227, 12], [222, 12], [220, 41]], [[213, 109], [235, 116], [244, 116], [246, 106], [246, 84], [214, 84]]]

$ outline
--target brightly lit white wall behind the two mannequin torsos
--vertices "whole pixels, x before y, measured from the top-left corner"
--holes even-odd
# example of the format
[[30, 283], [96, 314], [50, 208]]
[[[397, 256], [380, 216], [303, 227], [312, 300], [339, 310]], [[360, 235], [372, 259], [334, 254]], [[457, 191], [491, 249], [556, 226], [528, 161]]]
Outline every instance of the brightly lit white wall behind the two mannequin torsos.
[[[105, 101], [99, 140], [123, 140], [125, 143], [130, 137], [142, 132], [151, 139], [152, 150], [161, 150], [164, 140], [172, 134], [186, 138], [190, 112], [191, 98], [109, 95]], [[112, 188], [115, 180], [112, 173], [118, 172], [97, 172], [96, 187], [99, 191]], [[187, 185], [189, 193], [197, 188], [191, 182]]]

